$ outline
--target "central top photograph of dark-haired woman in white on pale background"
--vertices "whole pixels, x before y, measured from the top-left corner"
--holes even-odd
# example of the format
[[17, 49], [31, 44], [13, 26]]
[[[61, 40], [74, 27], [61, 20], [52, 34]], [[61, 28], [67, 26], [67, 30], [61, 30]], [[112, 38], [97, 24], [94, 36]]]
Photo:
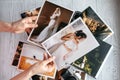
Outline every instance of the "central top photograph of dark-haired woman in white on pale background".
[[42, 46], [50, 55], [56, 56], [58, 70], [65, 64], [76, 59], [99, 46], [88, 27], [78, 18], [64, 29], [47, 39]]

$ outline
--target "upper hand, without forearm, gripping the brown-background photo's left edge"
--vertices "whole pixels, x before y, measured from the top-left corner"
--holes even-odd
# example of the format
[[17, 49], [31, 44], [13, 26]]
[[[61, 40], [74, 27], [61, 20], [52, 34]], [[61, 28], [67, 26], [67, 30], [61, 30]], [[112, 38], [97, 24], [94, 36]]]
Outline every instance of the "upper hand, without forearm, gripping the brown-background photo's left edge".
[[37, 19], [37, 16], [33, 16], [33, 17], [27, 17], [19, 21], [13, 22], [9, 30], [10, 32], [13, 32], [13, 33], [22, 33], [25, 30], [28, 31], [28, 29], [30, 28], [36, 28], [38, 26], [37, 24], [35, 24], [36, 19]]

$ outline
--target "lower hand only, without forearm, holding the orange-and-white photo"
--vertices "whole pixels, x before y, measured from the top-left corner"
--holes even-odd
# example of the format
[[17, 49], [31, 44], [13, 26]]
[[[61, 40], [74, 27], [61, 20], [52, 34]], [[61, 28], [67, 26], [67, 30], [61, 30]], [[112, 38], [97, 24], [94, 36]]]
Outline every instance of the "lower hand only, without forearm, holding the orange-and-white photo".
[[47, 54], [44, 54], [44, 60], [35, 63], [32, 67], [30, 67], [30, 70], [32, 72], [32, 75], [35, 74], [44, 74], [46, 72], [52, 72], [55, 68], [54, 64], [55, 57], [47, 57]]

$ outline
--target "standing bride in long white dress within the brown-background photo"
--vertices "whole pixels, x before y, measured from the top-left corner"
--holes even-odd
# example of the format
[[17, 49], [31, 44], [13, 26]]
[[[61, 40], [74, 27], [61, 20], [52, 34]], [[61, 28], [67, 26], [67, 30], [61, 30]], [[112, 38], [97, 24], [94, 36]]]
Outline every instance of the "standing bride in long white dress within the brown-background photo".
[[59, 16], [61, 15], [61, 10], [60, 8], [56, 8], [56, 10], [53, 12], [52, 16], [50, 17], [50, 22], [47, 27], [45, 27], [37, 39], [35, 39], [36, 42], [43, 42], [50, 36], [56, 33], [57, 28], [58, 28], [58, 19]]

